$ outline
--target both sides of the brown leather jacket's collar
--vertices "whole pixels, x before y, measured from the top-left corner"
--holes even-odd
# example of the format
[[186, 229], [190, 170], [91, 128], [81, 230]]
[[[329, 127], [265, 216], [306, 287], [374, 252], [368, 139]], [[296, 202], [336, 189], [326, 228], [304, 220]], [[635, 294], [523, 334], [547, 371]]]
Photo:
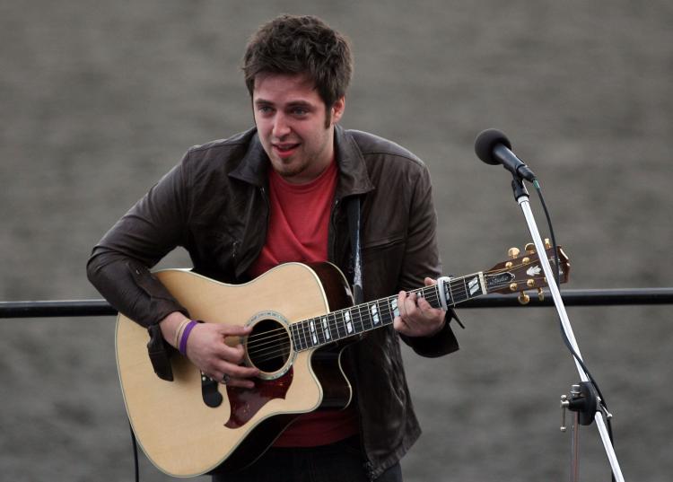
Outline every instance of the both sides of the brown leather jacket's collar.
[[[229, 175], [258, 188], [266, 186], [270, 161], [262, 143], [259, 142], [257, 129], [251, 128], [242, 137], [249, 141], [248, 151]], [[339, 168], [337, 197], [354, 196], [371, 191], [374, 186], [371, 184], [363, 153], [355, 143], [353, 136], [343, 127], [336, 126], [334, 144]]]

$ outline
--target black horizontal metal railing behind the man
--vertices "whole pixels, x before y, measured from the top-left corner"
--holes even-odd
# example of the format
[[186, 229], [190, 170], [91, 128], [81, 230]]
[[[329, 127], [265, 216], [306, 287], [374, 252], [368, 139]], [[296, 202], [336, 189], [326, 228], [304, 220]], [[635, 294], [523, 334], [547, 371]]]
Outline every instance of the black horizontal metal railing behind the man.
[[[530, 296], [526, 306], [553, 306], [554, 300], [548, 291], [543, 291], [540, 300], [537, 294]], [[564, 290], [561, 296], [566, 306], [609, 306], [635, 304], [673, 304], [673, 288], [625, 288]], [[468, 302], [459, 308], [512, 308], [522, 306], [518, 294], [488, 294]], [[57, 318], [80, 316], [115, 316], [117, 310], [104, 300], [58, 300], [0, 302], [0, 318]]]

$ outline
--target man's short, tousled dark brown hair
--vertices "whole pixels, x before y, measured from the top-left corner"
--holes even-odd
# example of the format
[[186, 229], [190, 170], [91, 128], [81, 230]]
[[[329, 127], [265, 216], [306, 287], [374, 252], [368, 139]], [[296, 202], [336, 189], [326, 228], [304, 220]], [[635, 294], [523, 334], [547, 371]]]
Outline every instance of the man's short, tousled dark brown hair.
[[258, 74], [306, 74], [331, 108], [345, 96], [353, 57], [348, 40], [318, 17], [281, 15], [250, 39], [243, 73], [250, 97]]

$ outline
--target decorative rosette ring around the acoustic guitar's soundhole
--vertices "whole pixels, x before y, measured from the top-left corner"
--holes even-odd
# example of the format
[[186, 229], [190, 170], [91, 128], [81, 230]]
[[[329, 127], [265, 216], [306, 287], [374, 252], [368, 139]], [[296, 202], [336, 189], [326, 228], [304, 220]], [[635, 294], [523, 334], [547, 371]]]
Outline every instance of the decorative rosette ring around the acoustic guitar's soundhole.
[[252, 332], [244, 341], [246, 364], [259, 369], [259, 378], [275, 380], [293, 364], [295, 352], [290, 324], [273, 311], [258, 313], [248, 325]]

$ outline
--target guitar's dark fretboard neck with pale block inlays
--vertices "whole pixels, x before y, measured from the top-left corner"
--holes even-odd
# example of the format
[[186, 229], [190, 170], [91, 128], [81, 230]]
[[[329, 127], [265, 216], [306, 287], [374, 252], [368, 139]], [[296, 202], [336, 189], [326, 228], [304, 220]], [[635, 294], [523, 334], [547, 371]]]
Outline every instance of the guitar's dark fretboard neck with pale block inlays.
[[[425, 286], [409, 293], [422, 296], [433, 306], [441, 308], [440, 285]], [[448, 306], [456, 306], [487, 293], [482, 272], [452, 278], [444, 284], [444, 298]], [[302, 320], [291, 326], [295, 350], [328, 345], [347, 337], [353, 337], [372, 329], [392, 324], [399, 315], [398, 295], [364, 302], [339, 311]]]

